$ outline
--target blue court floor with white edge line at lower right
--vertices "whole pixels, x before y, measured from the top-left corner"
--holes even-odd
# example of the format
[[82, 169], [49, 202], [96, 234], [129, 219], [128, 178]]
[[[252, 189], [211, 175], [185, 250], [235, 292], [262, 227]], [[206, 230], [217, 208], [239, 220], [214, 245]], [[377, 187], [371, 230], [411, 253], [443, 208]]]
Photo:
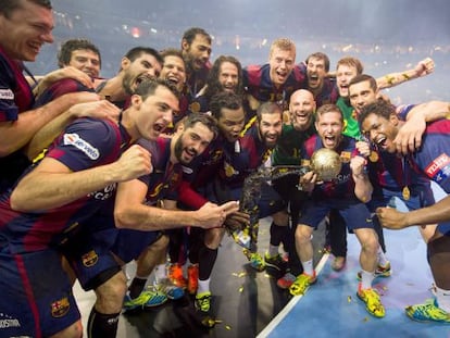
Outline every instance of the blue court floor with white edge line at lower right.
[[450, 325], [417, 323], [404, 314], [404, 306], [432, 298], [433, 277], [426, 261], [426, 246], [416, 227], [385, 229], [387, 258], [392, 275], [377, 278], [386, 316], [376, 318], [355, 295], [359, 242], [348, 236], [347, 266], [330, 268], [333, 256], [317, 265], [317, 283], [303, 297], [295, 297], [258, 337], [450, 337]]

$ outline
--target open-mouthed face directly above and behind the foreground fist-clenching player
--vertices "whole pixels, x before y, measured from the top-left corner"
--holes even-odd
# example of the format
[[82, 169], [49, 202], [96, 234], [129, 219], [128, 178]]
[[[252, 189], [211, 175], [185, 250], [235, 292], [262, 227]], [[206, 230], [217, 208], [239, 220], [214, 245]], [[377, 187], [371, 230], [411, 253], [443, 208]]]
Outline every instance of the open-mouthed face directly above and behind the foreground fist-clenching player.
[[133, 62], [128, 58], [123, 58], [123, 88], [127, 93], [134, 93], [142, 80], [160, 76], [161, 67], [161, 63], [152, 54], [141, 53]]

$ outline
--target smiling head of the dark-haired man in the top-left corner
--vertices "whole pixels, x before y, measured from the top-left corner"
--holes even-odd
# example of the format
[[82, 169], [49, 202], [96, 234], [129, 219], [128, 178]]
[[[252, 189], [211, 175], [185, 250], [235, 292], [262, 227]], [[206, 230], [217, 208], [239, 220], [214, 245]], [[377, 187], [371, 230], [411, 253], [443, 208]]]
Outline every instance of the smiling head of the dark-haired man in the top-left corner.
[[0, 13], [0, 46], [12, 59], [35, 61], [42, 45], [53, 42], [53, 26], [50, 9], [21, 1], [9, 17]]

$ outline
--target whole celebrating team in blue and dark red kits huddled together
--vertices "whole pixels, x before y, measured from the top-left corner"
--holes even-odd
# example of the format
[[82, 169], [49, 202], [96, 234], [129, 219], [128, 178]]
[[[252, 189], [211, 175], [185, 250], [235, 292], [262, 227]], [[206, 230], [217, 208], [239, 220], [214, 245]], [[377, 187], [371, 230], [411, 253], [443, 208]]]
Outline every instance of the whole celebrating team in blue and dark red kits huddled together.
[[[75, 280], [96, 295], [89, 337], [115, 337], [122, 311], [186, 293], [211, 327], [224, 236], [304, 295], [324, 221], [336, 271], [357, 236], [357, 295], [375, 317], [388, 315], [372, 286], [390, 276], [383, 227], [417, 226], [435, 295], [405, 313], [450, 323], [450, 200], [435, 202], [430, 186], [450, 192], [450, 103], [395, 107], [379, 91], [433, 73], [432, 59], [374, 78], [353, 57], [334, 72], [323, 52], [299, 61], [277, 38], [266, 64], [242, 67], [233, 55], [211, 63], [210, 34], [192, 27], [179, 46], [130, 49], [112, 78], [83, 37], [63, 41], [60, 68], [32, 76], [24, 61], [53, 42], [53, 26], [49, 0], [0, 0], [0, 337], [80, 337]], [[339, 159], [332, 178], [302, 171], [323, 148]], [[410, 212], [386, 208], [395, 197]]]

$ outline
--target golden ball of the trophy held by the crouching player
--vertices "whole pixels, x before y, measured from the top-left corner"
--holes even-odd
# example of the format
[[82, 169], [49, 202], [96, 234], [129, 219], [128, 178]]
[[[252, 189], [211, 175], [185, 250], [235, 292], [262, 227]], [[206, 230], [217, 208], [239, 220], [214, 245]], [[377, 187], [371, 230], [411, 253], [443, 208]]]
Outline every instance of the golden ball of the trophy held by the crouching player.
[[317, 175], [318, 181], [335, 179], [341, 166], [339, 154], [332, 149], [318, 149], [311, 157], [311, 168]]

